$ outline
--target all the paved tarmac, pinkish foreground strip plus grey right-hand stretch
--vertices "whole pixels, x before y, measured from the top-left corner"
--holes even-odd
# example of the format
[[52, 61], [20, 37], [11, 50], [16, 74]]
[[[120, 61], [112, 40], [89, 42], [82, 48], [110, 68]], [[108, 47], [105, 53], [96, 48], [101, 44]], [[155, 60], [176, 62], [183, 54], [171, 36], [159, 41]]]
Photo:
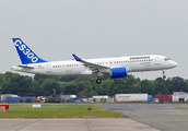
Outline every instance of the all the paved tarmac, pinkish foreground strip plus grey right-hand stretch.
[[[0, 119], [0, 131], [187, 131], [187, 104], [102, 105], [125, 118]], [[129, 117], [130, 116], [130, 117]]]

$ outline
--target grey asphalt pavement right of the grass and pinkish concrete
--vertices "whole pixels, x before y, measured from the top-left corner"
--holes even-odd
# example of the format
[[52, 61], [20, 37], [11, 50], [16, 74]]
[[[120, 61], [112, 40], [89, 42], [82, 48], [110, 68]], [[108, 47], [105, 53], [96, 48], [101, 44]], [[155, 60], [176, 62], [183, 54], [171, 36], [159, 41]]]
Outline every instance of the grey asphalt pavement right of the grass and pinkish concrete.
[[174, 106], [187, 106], [187, 104], [119, 104], [102, 105], [105, 109], [130, 114], [132, 120], [154, 127], [163, 131], [187, 131], [188, 109], [177, 109]]

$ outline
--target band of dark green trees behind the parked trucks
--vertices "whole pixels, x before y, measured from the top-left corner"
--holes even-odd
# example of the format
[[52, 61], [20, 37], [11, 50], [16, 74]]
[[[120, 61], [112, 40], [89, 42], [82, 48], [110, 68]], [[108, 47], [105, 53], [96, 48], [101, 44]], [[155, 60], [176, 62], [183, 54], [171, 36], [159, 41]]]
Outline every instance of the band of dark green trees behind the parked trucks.
[[173, 92], [188, 92], [188, 82], [175, 76], [154, 81], [140, 80], [129, 74], [124, 79], [102, 78], [103, 82], [96, 84], [95, 76], [47, 76], [35, 74], [34, 78], [19, 73], [0, 73], [0, 92], [2, 94], [16, 94], [19, 96], [49, 96], [56, 88], [56, 94], [93, 96], [115, 94], [148, 93], [173, 94]]

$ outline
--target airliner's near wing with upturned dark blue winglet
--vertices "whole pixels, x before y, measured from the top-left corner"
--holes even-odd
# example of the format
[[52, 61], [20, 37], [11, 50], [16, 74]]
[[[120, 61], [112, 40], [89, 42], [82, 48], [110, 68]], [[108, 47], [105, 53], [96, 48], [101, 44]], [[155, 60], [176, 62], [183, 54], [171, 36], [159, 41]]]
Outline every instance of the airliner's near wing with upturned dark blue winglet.
[[99, 66], [99, 64], [96, 64], [96, 63], [92, 63], [92, 62], [82, 60], [78, 56], [75, 56], [74, 53], [72, 53], [72, 56], [74, 57], [74, 59], [77, 61], [82, 62], [86, 68], [92, 70], [92, 73], [109, 73], [109, 70], [110, 70], [109, 67]]

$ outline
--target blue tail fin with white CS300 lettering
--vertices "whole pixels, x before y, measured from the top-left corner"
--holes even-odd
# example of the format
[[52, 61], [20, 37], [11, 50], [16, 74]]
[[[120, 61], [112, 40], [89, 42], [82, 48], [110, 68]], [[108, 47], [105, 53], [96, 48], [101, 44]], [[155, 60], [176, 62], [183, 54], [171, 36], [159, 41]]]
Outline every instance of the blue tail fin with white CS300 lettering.
[[22, 64], [47, 62], [32, 51], [32, 49], [30, 49], [21, 38], [12, 38], [12, 40], [17, 50]]

